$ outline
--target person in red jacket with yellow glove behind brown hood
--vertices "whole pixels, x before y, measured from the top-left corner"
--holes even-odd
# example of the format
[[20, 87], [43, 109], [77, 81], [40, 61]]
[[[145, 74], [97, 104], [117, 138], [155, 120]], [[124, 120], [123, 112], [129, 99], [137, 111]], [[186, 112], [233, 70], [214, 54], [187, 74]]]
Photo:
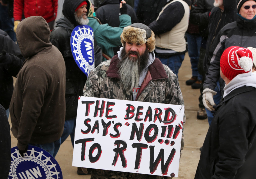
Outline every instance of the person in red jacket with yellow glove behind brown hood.
[[42, 16], [48, 23], [50, 30], [54, 27], [54, 21], [57, 16], [58, 0], [14, 0], [13, 17], [14, 31], [22, 20], [22, 13], [25, 18], [30, 16]]

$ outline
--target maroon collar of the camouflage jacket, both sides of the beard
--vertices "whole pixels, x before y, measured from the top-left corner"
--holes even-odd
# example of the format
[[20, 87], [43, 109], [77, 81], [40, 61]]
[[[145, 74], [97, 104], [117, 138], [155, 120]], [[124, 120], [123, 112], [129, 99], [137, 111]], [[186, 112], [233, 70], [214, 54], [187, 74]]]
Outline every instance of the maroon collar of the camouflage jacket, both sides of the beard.
[[[117, 67], [118, 61], [118, 55], [115, 55], [111, 59], [109, 69], [106, 72], [108, 77], [120, 79], [120, 75], [118, 74], [119, 68]], [[158, 58], [155, 58], [154, 62], [148, 67], [148, 71], [152, 80], [168, 78], [164, 66]]]

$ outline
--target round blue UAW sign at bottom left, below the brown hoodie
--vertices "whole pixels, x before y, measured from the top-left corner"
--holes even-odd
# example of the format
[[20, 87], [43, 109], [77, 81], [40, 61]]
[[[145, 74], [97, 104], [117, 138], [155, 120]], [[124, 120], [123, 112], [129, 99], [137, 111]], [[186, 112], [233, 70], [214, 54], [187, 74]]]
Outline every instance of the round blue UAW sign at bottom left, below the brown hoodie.
[[16, 146], [11, 149], [11, 166], [8, 178], [62, 179], [62, 172], [58, 162], [47, 151], [29, 145], [28, 151], [22, 157]]

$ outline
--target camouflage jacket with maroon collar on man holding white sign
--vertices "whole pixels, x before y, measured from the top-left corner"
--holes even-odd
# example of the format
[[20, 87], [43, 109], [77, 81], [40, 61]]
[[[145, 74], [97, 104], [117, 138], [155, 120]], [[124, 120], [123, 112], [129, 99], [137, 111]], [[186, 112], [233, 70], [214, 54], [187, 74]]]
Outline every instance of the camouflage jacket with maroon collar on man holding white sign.
[[[132, 93], [127, 94], [120, 82], [120, 76], [116, 66], [118, 61], [118, 56], [115, 55], [111, 60], [102, 62], [97, 68], [90, 72], [84, 86], [84, 96], [132, 100]], [[146, 77], [138, 91], [136, 101], [184, 105], [176, 75], [169, 69], [169, 67], [163, 65], [158, 58], [155, 58], [154, 62], [148, 67]], [[183, 120], [185, 123], [185, 113]], [[183, 139], [181, 145], [182, 150], [184, 146]], [[91, 178], [108, 178], [106, 176], [121, 179], [163, 178], [163, 176], [157, 175], [145, 175], [100, 169], [93, 169], [91, 173]]]

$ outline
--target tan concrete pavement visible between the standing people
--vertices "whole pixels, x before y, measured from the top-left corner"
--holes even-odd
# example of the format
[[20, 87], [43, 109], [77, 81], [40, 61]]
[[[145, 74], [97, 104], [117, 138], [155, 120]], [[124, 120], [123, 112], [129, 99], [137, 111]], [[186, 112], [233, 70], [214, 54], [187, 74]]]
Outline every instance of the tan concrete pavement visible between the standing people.
[[[197, 164], [200, 158], [199, 148], [202, 146], [205, 135], [208, 130], [208, 121], [198, 120], [196, 118], [198, 107], [199, 89], [192, 89], [191, 86], [186, 86], [185, 81], [192, 76], [191, 64], [188, 54], [179, 70], [179, 85], [183, 94], [185, 103], [186, 123], [184, 125], [184, 149], [180, 158], [178, 178], [194, 178]], [[10, 118], [9, 118], [10, 122]], [[10, 124], [11, 125], [11, 124]], [[17, 146], [17, 139], [14, 138], [11, 132], [12, 147]], [[72, 166], [73, 148], [70, 137], [60, 146], [59, 152], [55, 157], [58, 161], [63, 178], [90, 178], [90, 175], [77, 175], [77, 167]]]

